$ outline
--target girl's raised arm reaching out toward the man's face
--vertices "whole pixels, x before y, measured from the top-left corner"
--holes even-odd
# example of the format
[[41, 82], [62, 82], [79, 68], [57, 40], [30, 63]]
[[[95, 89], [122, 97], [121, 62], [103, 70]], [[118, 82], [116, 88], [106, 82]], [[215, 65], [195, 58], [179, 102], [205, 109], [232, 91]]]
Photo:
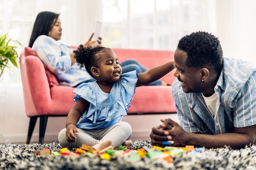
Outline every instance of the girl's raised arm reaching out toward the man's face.
[[138, 81], [136, 87], [154, 82], [155, 80], [162, 78], [164, 75], [172, 71], [174, 68], [174, 61], [171, 61], [160, 66], [151, 68], [148, 71], [145, 71], [144, 73], [140, 73], [137, 75]]

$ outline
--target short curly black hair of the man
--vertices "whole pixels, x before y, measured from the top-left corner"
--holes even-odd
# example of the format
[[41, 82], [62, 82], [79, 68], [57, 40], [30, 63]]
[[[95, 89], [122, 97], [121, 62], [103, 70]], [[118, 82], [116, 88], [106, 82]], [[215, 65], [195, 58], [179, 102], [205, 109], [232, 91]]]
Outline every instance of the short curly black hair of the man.
[[186, 66], [212, 68], [217, 73], [222, 70], [223, 53], [220, 41], [211, 33], [199, 31], [186, 35], [177, 47], [187, 53]]

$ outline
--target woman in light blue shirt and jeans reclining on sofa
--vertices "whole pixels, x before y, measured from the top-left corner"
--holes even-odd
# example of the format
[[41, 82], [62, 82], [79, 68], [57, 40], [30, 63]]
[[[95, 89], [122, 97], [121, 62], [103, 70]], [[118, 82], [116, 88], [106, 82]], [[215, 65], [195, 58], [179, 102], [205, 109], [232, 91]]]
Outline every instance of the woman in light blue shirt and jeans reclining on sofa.
[[[34, 23], [29, 47], [36, 51], [47, 68], [56, 75], [60, 85], [77, 87], [83, 82], [95, 81], [84, 68], [79, 68], [78, 64], [75, 64], [74, 49], [58, 42], [61, 40], [61, 31], [59, 14], [49, 11], [40, 12]], [[98, 38], [97, 42], [92, 41], [93, 35], [94, 33], [88, 42], [83, 44], [84, 46], [101, 46], [101, 38]], [[121, 62], [120, 66], [123, 68], [123, 73], [134, 70], [138, 73], [147, 71], [137, 60], [126, 60]], [[147, 85], [166, 86], [167, 83], [158, 79]]]

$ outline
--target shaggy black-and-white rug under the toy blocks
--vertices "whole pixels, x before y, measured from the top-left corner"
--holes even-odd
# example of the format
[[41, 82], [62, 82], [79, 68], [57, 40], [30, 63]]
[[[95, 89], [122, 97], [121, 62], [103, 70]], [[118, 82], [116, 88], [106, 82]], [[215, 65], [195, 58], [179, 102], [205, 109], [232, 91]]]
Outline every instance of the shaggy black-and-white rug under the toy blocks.
[[[133, 147], [152, 147], [150, 141], [133, 141]], [[0, 144], [1, 170], [256, 170], [256, 146], [250, 145], [239, 150], [231, 148], [205, 149], [173, 157], [172, 163], [161, 159], [134, 161], [128, 157], [110, 160], [94, 155], [38, 156], [34, 151], [48, 148], [59, 152], [58, 143], [52, 144]]]

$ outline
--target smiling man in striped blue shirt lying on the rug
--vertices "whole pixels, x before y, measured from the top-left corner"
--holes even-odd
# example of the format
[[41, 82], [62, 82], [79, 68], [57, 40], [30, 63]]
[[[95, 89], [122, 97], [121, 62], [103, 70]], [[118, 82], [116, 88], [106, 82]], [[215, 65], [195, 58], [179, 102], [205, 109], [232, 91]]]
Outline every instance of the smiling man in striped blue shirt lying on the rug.
[[207, 32], [184, 36], [175, 51], [172, 93], [180, 125], [161, 119], [153, 145], [241, 148], [256, 144], [256, 65], [223, 56]]

